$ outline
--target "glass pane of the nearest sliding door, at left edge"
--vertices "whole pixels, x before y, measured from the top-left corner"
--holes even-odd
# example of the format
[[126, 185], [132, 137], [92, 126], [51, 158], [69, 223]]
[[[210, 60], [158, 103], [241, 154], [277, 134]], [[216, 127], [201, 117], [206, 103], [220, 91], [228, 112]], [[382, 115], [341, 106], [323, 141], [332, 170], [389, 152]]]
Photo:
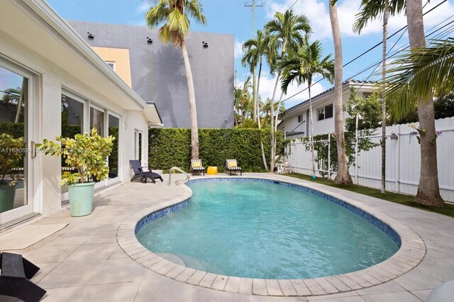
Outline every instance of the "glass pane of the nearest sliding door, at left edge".
[[26, 206], [28, 79], [0, 67], [0, 213]]

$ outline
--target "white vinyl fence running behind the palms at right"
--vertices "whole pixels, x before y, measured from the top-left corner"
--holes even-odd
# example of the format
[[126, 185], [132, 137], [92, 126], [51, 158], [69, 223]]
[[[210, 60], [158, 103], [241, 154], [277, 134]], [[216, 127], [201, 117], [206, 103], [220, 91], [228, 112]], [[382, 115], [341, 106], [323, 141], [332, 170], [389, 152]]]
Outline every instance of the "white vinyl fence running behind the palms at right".
[[[419, 123], [415, 123], [415, 125], [419, 126]], [[442, 131], [436, 140], [440, 193], [445, 201], [454, 202], [454, 117], [436, 120], [435, 125], [437, 131]], [[421, 172], [421, 152], [418, 140], [412, 134], [414, 131], [409, 124], [387, 127], [387, 191], [416, 195]], [[376, 129], [375, 133], [367, 138], [370, 138], [372, 142], [380, 142], [381, 129]], [[393, 135], [394, 139], [391, 137], [392, 133], [397, 135], [397, 139], [395, 135]], [[361, 138], [358, 136], [358, 139]], [[331, 147], [328, 140], [323, 142]], [[286, 160], [291, 172], [308, 175], [311, 173], [311, 152], [306, 151], [306, 144], [308, 142], [296, 139], [287, 147]], [[332, 145], [332, 147], [336, 147], [336, 145]], [[355, 159], [355, 164], [350, 166], [353, 183], [380, 189], [381, 157], [380, 145], [369, 151], [361, 151]], [[317, 162], [315, 164], [316, 175], [320, 177], [319, 172], [323, 172], [323, 170], [319, 170]], [[333, 179], [335, 173], [331, 172], [330, 177]]]

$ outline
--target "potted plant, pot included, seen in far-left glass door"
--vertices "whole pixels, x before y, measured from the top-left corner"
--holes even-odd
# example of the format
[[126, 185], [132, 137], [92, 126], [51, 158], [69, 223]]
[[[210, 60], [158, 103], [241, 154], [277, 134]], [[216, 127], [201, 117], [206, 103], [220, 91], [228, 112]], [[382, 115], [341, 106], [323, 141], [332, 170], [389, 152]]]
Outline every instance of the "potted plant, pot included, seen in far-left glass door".
[[[23, 138], [1, 133], [0, 135], [0, 213], [9, 211], [14, 205], [16, 184], [19, 180], [11, 174], [13, 168], [19, 167], [23, 160]], [[6, 179], [9, 174], [9, 179]]]

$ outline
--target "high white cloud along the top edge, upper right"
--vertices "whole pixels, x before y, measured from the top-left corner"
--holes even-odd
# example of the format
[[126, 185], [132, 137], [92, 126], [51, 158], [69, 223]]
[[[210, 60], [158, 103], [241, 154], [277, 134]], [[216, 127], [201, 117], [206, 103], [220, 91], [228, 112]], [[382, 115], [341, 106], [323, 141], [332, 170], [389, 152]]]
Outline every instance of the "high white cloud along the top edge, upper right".
[[[424, 11], [435, 7], [443, 0], [432, 0]], [[343, 35], [358, 36], [353, 33], [352, 26], [355, 21], [355, 14], [360, 8], [360, 0], [345, 0], [338, 4], [339, 28]], [[283, 2], [272, 1], [267, 10], [267, 17], [272, 18], [276, 11], [285, 11], [294, 4], [294, 0], [284, 0]], [[325, 0], [299, 0], [293, 6], [295, 13], [304, 13], [309, 18], [312, 29], [314, 30], [313, 38], [324, 39], [331, 38], [331, 22], [328, 12], [328, 1]], [[428, 13], [424, 17], [424, 26], [426, 29], [438, 24], [440, 21], [454, 14], [453, 0], [441, 4], [435, 11]], [[406, 17], [401, 14], [389, 18], [389, 31], [394, 31], [406, 25]], [[367, 23], [367, 27], [362, 30], [362, 34], [381, 33], [382, 21], [377, 19]]]

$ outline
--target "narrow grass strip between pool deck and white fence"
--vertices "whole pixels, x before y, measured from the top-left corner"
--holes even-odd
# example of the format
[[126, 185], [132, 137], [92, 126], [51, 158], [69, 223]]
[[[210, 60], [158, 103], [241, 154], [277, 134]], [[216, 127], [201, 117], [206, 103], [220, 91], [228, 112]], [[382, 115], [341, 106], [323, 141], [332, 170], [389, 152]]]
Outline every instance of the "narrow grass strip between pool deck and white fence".
[[326, 186], [334, 186], [335, 188], [344, 189], [347, 191], [352, 191], [359, 194], [364, 194], [367, 196], [372, 196], [375, 198], [380, 198], [385, 201], [392, 201], [395, 203], [400, 203], [405, 206], [411, 206], [413, 208], [421, 208], [422, 210], [435, 212], [441, 215], [450, 216], [454, 218], [454, 206], [450, 204], [445, 204], [443, 208], [436, 208], [433, 206], [423, 206], [419, 203], [415, 203], [413, 201], [414, 196], [404, 195], [404, 194], [397, 194], [392, 192], [387, 192], [385, 194], [381, 194], [380, 190], [367, 188], [366, 186], [358, 186], [356, 184], [349, 184], [347, 186], [341, 186], [335, 184], [334, 181], [329, 179], [317, 178], [316, 180], [312, 180], [309, 175], [298, 174], [298, 173], [290, 173], [290, 174], [282, 174], [288, 177], [294, 177], [297, 179], [304, 179], [306, 181], [314, 181], [317, 184], [325, 184]]

